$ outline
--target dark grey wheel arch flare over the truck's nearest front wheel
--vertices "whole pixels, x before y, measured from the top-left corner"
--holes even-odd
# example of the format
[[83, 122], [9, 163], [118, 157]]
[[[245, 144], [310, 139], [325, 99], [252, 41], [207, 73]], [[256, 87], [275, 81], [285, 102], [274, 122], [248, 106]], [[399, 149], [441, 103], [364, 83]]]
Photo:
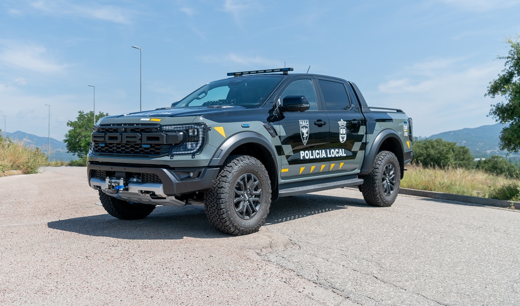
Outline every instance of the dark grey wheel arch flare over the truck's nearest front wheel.
[[278, 160], [272, 144], [262, 135], [248, 131], [227, 138], [211, 158], [209, 166], [222, 166], [229, 155], [249, 155], [267, 169], [271, 181], [272, 201], [278, 199]]

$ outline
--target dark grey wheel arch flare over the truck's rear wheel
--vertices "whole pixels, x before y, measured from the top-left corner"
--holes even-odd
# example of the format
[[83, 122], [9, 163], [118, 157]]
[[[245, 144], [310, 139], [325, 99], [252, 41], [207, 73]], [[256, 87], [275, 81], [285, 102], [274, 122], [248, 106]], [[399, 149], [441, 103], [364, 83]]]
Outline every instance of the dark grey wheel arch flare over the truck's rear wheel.
[[392, 129], [383, 130], [375, 137], [370, 151], [365, 155], [359, 175], [367, 175], [372, 171], [375, 156], [381, 151], [389, 151], [395, 154], [399, 161], [400, 176], [402, 179], [405, 173], [405, 152], [399, 135]]

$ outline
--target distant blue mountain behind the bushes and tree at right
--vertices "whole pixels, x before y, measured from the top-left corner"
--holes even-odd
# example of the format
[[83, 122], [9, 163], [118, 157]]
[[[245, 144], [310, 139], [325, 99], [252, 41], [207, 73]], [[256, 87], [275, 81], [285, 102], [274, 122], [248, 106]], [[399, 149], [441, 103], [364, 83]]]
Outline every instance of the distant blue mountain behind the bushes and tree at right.
[[512, 161], [516, 161], [520, 158], [520, 154], [509, 153], [499, 148], [500, 132], [503, 127], [503, 124], [497, 123], [476, 128], [463, 128], [435, 134], [428, 137], [428, 139], [440, 138], [446, 141], [457, 142], [458, 145], [465, 145], [476, 158], [501, 155], [511, 157]]

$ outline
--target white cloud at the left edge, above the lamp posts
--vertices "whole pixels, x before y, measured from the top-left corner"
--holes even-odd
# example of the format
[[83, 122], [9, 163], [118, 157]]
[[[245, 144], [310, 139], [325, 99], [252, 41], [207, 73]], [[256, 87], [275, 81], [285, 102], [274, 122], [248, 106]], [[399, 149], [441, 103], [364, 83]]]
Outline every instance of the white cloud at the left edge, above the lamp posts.
[[0, 51], [0, 64], [39, 73], [57, 73], [67, 65], [57, 64], [47, 55], [43, 46], [11, 45]]

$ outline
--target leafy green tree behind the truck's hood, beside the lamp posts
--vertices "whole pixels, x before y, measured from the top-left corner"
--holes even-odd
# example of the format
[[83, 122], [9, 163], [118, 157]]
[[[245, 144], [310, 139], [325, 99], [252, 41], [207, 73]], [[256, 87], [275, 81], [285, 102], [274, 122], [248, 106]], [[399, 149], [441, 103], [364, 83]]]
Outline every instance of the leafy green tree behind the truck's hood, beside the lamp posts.
[[[75, 154], [78, 158], [85, 158], [90, 146], [90, 134], [92, 133], [94, 123], [94, 112], [84, 113], [79, 111], [76, 121], [67, 122], [67, 126], [71, 129], [65, 134], [63, 142], [67, 145], [67, 151]], [[97, 118], [108, 116], [105, 113], [99, 113]]]

